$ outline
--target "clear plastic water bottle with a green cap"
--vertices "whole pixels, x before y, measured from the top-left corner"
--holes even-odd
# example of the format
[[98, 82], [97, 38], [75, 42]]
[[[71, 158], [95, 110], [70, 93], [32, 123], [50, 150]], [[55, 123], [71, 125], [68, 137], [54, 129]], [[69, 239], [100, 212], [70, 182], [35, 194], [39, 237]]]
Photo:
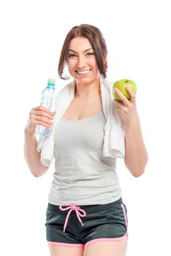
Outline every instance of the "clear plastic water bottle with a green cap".
[[[42, 98], [40, 105], [53, 112], [55, 109], [55, 102], [54, 102], [54, 91], [55, 91], [55, 79], [48, 79], [47, 80], [47, 87], [42, 91]], [[50, 135], [52, 127], [44, 127], [42, 125], [37, 125], [35, 129], [35, 133], [37, 135], [43, 135], [47, 137]]]

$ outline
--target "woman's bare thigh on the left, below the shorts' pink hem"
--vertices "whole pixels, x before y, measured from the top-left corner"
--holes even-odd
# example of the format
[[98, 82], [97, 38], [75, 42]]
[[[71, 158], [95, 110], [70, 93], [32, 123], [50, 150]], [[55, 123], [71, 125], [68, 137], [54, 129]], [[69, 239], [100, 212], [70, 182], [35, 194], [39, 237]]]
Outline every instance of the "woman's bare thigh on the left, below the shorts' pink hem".
[[83, 256], [83, 247], [56, 246], [48, 244], [51, 256]]

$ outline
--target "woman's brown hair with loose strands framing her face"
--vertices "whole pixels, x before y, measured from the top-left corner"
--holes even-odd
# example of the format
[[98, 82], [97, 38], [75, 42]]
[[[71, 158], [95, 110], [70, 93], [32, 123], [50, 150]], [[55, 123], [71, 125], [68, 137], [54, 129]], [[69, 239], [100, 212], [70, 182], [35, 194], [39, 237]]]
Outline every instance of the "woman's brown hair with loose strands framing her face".
[[88, 24], [81, 24], [80, 26], [74, 26], [66, 35], [64, 45], [61, 50], [61, 56], [58, 62], [58, 75], [61, 79], [68, 80], [70, 77], [64, 75], [64, 67], [68, 59], [68, 50], [71, 40], [75, 37], [86, 37], [91, 43], [94, 49], [94, 56], [96, 58], [96, 64], [99, 69], [100, 75], [106, 78], [107, 61], [103, 61], [103, 58], [107, 57], [107, 46], [102, 36], [102, 32], [98, 28]]

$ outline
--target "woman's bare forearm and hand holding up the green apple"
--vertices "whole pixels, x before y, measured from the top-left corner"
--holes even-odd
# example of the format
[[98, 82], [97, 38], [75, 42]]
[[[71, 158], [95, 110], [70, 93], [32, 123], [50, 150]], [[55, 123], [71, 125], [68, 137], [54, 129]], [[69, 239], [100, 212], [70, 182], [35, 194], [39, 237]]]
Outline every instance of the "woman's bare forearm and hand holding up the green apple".
[[135, 94], [128, 86], [126, 86], [126, 90], [129, 92], [130, 100], [126, 99], [121, 91], [115, 89], [115, 93], [122, 99], [122, 102], [115, 100], [115, 106], [126, 131], [126, 154], [124, 159], [126, 167], [134, 177], [139, 177], [145, 171], [145, 166], [148, 162], [148, 153], [142, 138]]

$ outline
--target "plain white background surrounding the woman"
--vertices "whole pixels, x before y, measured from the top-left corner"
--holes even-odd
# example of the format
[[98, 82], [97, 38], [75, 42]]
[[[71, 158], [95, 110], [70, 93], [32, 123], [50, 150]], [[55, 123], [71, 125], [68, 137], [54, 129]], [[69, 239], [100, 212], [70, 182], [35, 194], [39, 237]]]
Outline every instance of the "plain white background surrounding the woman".
[[127, 256], [171, 255], [170, 249], [170, 6], [169, 1], [1, 1], [1, 247], [0, 254], [49, 255], [45, 210], [54, 167], [31, 175], [23, 130], [72, 26], [99, 27], [108, 47], [108, 78], [137, 83], [137, 109], [149, 161], [134, 178], [118, 160], [128, 208]]

